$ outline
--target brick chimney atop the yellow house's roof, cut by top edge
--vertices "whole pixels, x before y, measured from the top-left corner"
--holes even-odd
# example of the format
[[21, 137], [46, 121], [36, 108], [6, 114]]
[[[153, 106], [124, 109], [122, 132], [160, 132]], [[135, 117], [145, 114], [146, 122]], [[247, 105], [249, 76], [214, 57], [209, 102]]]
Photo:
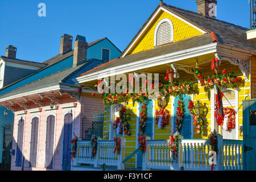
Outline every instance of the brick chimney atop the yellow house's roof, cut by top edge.
[[196, 0], [197, 13], [212, 18], [216, 17], [216, 0]]

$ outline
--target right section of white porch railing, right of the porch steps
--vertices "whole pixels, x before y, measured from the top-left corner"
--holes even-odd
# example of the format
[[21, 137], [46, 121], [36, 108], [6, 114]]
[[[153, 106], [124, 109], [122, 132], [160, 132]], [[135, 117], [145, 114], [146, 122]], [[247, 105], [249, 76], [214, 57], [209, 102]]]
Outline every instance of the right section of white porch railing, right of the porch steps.
[[[147, 140], [147, 150], [143, 155], [143, 170], [209, 171], [209, 144], [207, 139], [181, 139], [176, 161], [170, 159], [167, 140]], [[217, 165], [214, 170], [242, 170], [242, 140], [223, 140], [218, 136]]]

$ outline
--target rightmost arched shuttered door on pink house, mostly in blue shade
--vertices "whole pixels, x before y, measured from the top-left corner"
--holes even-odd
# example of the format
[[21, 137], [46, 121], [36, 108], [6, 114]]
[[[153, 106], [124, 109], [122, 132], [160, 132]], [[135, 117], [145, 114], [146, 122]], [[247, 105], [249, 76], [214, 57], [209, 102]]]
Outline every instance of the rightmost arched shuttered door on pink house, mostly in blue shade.
[[63, 158], [62, 169], [71, 170], [71, 140], [72, 140], [72, 114], [65, 114], [63, 133]]

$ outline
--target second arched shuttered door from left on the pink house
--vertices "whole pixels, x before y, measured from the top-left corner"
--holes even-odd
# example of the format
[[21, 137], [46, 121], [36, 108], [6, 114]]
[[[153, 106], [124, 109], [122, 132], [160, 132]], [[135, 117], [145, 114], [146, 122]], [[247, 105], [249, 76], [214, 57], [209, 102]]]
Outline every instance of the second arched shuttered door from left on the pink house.
[[31, 123], [31, 142], [30, 142], [30, 167], [36, 167], [38, 152], [38, 117], [34, 117]]

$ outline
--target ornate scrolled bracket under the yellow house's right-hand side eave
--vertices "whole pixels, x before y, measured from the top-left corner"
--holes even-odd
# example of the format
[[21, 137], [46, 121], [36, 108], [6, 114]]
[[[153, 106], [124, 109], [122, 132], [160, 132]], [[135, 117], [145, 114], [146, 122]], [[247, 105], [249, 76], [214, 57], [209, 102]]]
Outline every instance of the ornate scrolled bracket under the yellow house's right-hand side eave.
[[248, 68], [250, 66], [248, 61], [240, 60], [240, 59], [235, 59], [235, 58], [228, 57], [228, 56], [221, 56], [221, 55], [217, 55], [217, 54], [215, 54], [215, 56], [220, 61], [221, 60], [227, 60], [227, 61], [229, 61], [230, 64], [238, 65], [238, 67], [240, 68], [240, 70], [243, 73], [243, 76], [246, 78], [246, 80], [248, 80], [248, 74], [249, 74]]

